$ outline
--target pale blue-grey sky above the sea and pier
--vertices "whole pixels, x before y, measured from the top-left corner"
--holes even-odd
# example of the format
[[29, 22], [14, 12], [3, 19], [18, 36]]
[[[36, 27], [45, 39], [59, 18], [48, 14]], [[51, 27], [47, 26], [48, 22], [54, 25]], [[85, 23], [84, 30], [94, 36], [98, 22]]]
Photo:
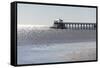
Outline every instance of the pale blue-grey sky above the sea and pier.
[[48, 25], [55, 19], [64, 22], [96, 23], [96, 8], [18, 4], [18, 25]]

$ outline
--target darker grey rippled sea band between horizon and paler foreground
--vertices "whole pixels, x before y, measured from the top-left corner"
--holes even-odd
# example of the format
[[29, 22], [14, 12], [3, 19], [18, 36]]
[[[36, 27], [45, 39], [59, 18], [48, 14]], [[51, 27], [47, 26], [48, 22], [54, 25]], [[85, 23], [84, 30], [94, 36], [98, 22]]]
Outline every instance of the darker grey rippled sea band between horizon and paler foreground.
[[51, 29], [47, 26], [18, 26], [18, 44], [51, 44], [95, 41], [95, 30]]

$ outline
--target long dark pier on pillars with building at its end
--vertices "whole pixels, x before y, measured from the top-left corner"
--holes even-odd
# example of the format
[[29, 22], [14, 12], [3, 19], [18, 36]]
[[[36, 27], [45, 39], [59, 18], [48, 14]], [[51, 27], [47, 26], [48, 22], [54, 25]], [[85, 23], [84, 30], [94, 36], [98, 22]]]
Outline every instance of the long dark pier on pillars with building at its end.
[[82, 22], [63, 22], [63, 20], [59, 19], [54, 21], [54, 25], [52, 28], [56, 29], [96, 29], [96, 23], [82, 23]]

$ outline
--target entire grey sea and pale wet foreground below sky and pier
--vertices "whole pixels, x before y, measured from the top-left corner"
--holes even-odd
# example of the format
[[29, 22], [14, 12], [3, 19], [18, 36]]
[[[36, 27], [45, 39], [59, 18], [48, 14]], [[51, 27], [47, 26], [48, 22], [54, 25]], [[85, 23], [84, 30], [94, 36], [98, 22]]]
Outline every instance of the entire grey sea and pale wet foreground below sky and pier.
[[96, 60], [96, 30], [18, 25], [18, 64]]

